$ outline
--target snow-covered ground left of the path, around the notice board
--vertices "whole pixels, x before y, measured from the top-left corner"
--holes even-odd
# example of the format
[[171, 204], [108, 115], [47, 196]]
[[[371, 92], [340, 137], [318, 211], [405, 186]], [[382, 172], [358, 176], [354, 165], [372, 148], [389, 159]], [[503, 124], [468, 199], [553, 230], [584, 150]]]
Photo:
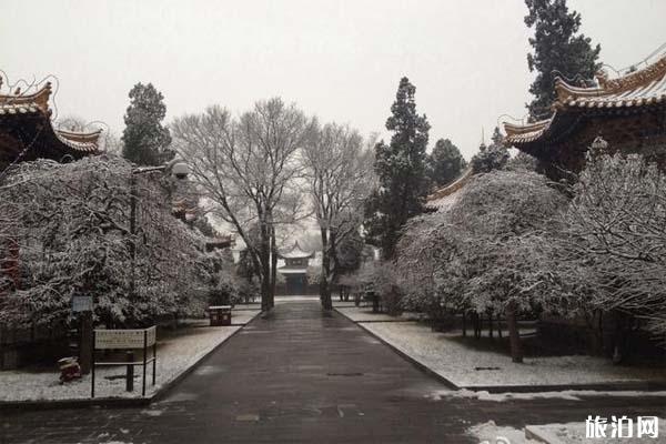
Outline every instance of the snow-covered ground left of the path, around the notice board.
[[[233, 313], [232, 321], [250, 320], [259, 311], [249, 311], [243, 316]], [[158, 341], [158, 363], [155, 385], [152, 383], [152, 365], [147, 367], [147, 396], [152, 395], [162, 386], [178, 377], [194, 365], [216, 345], [224, 342], [241, 326], [202, 326], [208, 321], [198, 320], [189, 323], [188, 327], [176, 331]], [[150, 356], [150, 354], [149, 354]], [[125, 367], [104, 366], [95, 370], [95, 397], [140, 397], [142, 384], [142, 367], [134, 367], [134, 391], [125, 392]], [[60, 385], [59, 371], [2, 371], [0, 372], [0, 402], [2, 401], [37, 401], [37, 400], [81, 400], [90, 397], [90, 375]], [[111, 379], [109, 379], [111, 377]]]

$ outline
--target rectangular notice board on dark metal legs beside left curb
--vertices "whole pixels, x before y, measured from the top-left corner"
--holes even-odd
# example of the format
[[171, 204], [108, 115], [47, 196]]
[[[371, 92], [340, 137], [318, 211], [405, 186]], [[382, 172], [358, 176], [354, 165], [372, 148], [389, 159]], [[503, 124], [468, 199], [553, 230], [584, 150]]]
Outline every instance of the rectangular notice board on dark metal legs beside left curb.
[[[145, 366], [150, 363], [153, 364], [153, 377], [152, 384], [155, 385], [155, 365], [157, 365], [157, 329], [151, 326], [149, 329], [133, 329], [133, 330], [94, 330], [93, 332], [93, 349], [92, 349], [92, 377], [90, 396], [94, 397], [94, 371], [99, 365], [127, 365], [133, 367], [134, 365], [143, 365], [143, 384], [141, 395], [145, 396]], [[148, 351], [152, 345], [152, 356], [148, 357]], [[94, 351], [95, 350], [137, 350], [143, 349], [143, 360], [134, 361], [132, 357], [131, 362], [95, 362]], [[133, 356], [133, 354], [132, 354]]]

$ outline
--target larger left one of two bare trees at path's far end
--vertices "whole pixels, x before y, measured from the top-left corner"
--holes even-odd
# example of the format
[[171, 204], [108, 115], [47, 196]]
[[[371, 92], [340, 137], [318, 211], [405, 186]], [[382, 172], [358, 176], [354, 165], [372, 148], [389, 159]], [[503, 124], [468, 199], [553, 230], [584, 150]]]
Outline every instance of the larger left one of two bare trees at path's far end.
[[[301, 212], [296, 152], [311, 122], [295, 105], [274, 98], [233, 119], [221, 107], [172, 124], [174, 144], [189, 162], [213, 214], [233, 225], [260, 272], [262, 310], [273, 306], [275, 225]], [[259, 235], [249, 235], [256, 224]]]

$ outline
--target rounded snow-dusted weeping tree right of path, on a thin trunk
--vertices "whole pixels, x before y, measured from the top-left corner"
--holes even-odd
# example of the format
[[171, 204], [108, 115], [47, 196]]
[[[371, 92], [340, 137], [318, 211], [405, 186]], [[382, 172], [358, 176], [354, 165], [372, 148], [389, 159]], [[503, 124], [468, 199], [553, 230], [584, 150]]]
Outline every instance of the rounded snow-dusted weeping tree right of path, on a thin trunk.
[[405, 302], [440, 316], [502, 313], [509, 330], [519, 312], [562, 307], [568, 294], [544, 266], [542, 246], [565, 204], [534, 172], [477, 175], [448, 211], [410, 223], [397, 259]]

